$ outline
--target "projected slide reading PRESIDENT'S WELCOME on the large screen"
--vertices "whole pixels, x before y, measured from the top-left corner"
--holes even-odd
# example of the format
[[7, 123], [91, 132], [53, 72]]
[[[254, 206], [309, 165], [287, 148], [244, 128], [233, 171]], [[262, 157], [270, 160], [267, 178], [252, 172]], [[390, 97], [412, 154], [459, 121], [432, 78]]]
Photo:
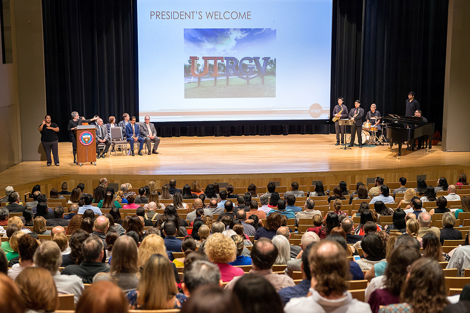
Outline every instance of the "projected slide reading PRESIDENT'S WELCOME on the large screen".
[[332, 0], [137, 0], [139, 120], [329, 119]]

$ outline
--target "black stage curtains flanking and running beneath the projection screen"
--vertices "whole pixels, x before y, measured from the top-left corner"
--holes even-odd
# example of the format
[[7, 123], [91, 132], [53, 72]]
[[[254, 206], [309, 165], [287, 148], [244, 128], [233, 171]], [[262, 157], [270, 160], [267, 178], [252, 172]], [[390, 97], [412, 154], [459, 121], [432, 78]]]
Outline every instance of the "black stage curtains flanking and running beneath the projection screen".
[[[47, 112], [65, 132], [72, 111], [137, 114], [135, 0], [43, 0]], [[333, 0], [331, 110], [360, 99], [404, 115], [409, 91], [442, 130], [448, 0]], [[313, 121], [156, 124], [161, 137], [334, 133]]]

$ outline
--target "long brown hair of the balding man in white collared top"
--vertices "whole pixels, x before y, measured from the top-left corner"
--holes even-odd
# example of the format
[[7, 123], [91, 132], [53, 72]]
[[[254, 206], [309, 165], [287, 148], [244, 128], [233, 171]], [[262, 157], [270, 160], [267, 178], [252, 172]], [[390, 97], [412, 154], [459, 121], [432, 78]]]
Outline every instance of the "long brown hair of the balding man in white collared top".
[[[328, 249], [323, 248], [327, 245]], [[329, 296], [348, 290], [346, 281], [351, 279], [351, 272], [346, 257], [346, 250], [337, 242], [323, 240], [311, 247], [308, 263], [312, 277], [317, 280], [316, 291]]]

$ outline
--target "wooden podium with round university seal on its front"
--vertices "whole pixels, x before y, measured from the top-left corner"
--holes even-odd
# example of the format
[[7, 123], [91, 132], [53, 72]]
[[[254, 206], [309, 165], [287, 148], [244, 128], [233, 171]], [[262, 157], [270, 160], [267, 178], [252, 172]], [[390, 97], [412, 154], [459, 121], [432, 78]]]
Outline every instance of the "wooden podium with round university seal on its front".
[[74, 131], [77, 140], [77, 163], [79, 166], [87, 162], [96, 165], [95, 131], [93, 125], [80, 125]]

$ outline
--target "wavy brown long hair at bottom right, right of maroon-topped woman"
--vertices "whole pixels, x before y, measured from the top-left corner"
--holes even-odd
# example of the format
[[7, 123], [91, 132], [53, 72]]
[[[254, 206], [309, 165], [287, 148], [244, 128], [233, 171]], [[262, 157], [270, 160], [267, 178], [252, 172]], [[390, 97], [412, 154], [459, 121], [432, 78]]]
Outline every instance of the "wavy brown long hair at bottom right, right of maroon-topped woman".
[[432, 259], [421, 258], [410, 268], [410, 276], [400, 292], [400, 302], [407, 302], [413, 312], [442, 312], [449, 304], [441, 265]]

